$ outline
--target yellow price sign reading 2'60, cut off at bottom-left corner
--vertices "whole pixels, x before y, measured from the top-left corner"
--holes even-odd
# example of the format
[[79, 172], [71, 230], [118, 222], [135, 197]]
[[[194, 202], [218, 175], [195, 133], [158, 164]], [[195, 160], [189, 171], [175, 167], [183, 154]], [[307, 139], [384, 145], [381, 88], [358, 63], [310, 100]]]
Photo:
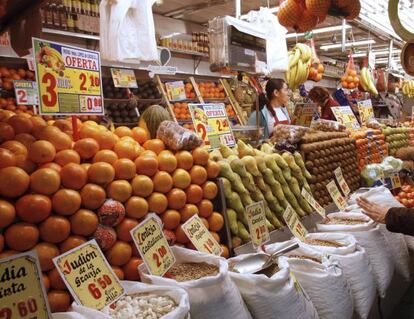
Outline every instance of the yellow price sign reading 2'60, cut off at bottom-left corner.
[[0, 260], [0, 318], [52, 318], [35, 251]]

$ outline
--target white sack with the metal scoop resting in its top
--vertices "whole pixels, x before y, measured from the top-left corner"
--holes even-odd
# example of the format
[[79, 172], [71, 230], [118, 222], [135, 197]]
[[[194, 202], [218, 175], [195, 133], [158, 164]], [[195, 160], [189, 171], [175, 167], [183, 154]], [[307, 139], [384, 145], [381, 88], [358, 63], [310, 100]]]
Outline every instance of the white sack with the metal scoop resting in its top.
[[[228, 260], [229, 265], [241, 261], [251, 254]], [[255, 319], [316, 319], [318, 314], [302, 290], [295, 287], [289, 267], [280, 270], [271, 278], [263, 274], [239, 274], [230, 271], [230, 277], [239, 289], [250, 313]]]

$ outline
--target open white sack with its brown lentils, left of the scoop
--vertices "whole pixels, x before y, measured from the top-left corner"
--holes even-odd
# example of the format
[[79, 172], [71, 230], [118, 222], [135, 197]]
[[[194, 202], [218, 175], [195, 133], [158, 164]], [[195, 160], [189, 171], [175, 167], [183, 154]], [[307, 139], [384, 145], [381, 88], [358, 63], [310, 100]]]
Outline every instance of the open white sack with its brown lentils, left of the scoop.
[[143, 282], [187, 291], [192, 318], [251, 319], [224, 258], [180, 247], [172, 250], [176, 263], [167, 276], [152, 276], [142, 264], [138, 269]]

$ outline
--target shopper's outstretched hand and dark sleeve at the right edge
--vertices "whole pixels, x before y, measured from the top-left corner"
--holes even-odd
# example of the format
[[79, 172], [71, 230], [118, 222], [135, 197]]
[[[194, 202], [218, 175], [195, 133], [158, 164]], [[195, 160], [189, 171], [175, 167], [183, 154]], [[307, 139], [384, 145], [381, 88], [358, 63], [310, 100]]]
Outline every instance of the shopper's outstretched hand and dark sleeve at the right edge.
[[363, 197], [358, 198], [357, 203], [366, 215], [378, 223], [385, 224], [389, 231], [414, 236], [414, 209], [385, 208]]

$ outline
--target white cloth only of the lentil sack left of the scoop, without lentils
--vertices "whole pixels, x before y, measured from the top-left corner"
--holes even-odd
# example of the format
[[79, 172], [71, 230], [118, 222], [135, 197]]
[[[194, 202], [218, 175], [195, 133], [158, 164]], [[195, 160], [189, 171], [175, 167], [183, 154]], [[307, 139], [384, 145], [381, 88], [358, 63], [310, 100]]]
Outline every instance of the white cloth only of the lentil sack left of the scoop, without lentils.
[[142, 264], [138, 270], [143, 282], [179, 287], [187, 291], [190, 298], [190, 313], [193, 318], [251, 318], [240, 292], [230, 279], [228, 264], [224, 258], [180, 247], [171, 248], [177, 263], [206, 262], [214, 264], [220, 268], [219, 274], [198, 280], [177, 282], [174, 279], [150, 275], [145, 265]]

